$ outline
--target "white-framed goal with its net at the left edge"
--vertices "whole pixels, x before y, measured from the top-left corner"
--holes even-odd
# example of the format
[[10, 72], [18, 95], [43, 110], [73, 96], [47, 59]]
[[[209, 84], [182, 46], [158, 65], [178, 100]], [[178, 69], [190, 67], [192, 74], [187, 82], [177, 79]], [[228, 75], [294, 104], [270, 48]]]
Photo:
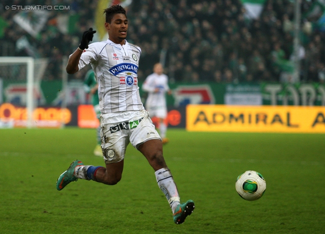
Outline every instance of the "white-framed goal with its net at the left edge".
[[47, 59], [0, 57], [0, 127], [39, 127], [34, 110], [44, 104], [47, 65]]

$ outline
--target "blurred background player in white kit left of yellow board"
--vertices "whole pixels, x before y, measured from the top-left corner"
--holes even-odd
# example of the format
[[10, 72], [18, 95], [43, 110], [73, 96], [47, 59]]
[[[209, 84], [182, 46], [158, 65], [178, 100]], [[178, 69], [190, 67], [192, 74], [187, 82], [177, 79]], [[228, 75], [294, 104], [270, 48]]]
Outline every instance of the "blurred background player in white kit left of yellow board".
[[166, 144], [169, 141], [166, 138], [167, 125], [164, 121], [167, 117], [166, 92], [171, 94], [171, 90], [168, 86], [168, 76], [163, 74], [163, 70], [163, 65], [156, 63], [153, 66], [153, 73], [148, 75], [142, 89], [148, 92], [146, 110], [150, 118], [158, 118], [160, 137], [163, 139], [163, 144]]

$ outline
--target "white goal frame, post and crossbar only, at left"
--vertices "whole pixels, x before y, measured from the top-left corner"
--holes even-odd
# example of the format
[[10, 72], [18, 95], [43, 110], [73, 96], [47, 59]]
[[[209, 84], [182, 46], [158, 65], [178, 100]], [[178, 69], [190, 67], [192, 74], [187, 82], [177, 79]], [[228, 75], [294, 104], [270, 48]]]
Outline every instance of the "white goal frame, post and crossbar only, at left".
[[[27, 65], [27, 77], [26, 77], [26, 109], [27, 109], [27, 128], [34, 127], [33, 125], [33, 112], [34, 112], [34, 63], [35, 60], [32, 57], [0, 57], [0, 63], [2, 64], [26, 64]], [[1, 66], [1, 65], [0, 65]]]

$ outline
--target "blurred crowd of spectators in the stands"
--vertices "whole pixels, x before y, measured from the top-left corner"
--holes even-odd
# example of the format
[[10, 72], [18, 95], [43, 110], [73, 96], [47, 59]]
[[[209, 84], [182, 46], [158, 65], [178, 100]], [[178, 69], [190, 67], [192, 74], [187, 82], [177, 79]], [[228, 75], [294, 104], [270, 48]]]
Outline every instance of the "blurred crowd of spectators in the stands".
[[[314, 1], [302, 2], [299, 80], [323, 83], [325, 34], [314, 24], [322, 13], [308, 16]], [[2, 1], [0, 56], [49, 58], [45, 79], [61, 79], [62, 57], [78, 47], [83, 31], [94, 27], [97, 3]], [[4, 6], [14, 4], [69, 5], [70, 10], [50, 11], [46, 26], [33, 37], [12, 20], [19, 11], [4, 10]], [[69, 33], [59, 30], [55, 21], [58, 14], [75, 16]], [[127, 41], [142, 49], [140, 79], [152, 73], [153, 64], [160, 61], [175, 82], [297, 82], [293, 73], [295, 1], [267, 0], [262, 14], [249, 19], [240, 0], [133, 0], [127, 16]], [[23, 36], [29, 48], [17, 45]], [[73, 77], [83, 75], [77, 72]]]

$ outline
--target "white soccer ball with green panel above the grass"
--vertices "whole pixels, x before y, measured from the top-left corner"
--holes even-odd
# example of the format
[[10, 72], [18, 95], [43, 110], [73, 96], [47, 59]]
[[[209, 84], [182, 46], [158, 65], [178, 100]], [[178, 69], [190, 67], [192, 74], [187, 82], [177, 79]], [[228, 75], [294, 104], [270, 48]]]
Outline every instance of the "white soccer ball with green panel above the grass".
[[237, 177], [236, 191], [247, 201], [261, 198], [266, 189], [265, 179], [256, 171], [245, 171]]

